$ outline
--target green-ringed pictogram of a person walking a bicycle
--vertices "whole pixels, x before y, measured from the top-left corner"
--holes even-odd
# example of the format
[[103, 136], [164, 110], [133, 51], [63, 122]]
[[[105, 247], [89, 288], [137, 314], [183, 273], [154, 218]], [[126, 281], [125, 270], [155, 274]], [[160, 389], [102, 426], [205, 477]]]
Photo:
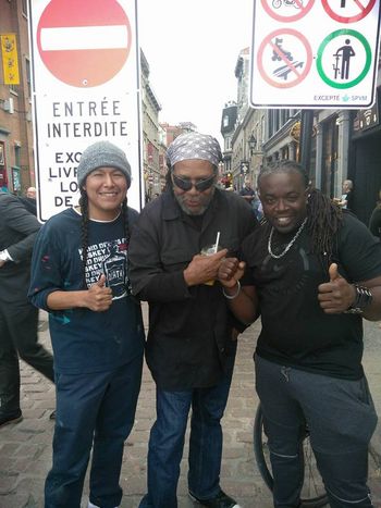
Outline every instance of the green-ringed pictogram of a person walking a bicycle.
[[368, 74], [372, 62], [369, 42], [357, 30], [341, 29], [323, 39], [317, 58], [320, 77], [334, 88], [352, 88]]

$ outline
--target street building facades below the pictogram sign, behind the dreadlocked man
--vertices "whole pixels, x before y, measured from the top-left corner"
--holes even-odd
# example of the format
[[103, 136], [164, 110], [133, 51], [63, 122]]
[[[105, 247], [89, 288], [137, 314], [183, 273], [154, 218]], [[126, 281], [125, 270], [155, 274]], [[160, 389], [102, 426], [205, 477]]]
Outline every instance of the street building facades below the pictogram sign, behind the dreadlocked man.
[[[231, 145], [225, 157], [237, 190], [249, 176], [256, 187], [262, 163], [291, 159], [300, 161], [303, 145], [303, 112], [297, 109], [246, 108], [243, 95], [248, 94], [248, 66], [244, 64], [246, 50], [235, 65], [238, 108], [234, 128], [221, 134]], [[247, 57], [248, 58], [248, 57]], [[245, 76], [246, 73], [246, 76]], [[381, 189], [381, 69], [377, 82], [376, 103], [368, 110], [314, 110], [308, 168], [311, 185], [325, 195], [340, 197], [344, 179], [354, 183], [354, 212], [368, 224]], [[239, 114], [241, 111], [241, 114]], [[222, 111], [222, 116], [225, 109]], [[303, 146], [300, 146], [300, 143]]]

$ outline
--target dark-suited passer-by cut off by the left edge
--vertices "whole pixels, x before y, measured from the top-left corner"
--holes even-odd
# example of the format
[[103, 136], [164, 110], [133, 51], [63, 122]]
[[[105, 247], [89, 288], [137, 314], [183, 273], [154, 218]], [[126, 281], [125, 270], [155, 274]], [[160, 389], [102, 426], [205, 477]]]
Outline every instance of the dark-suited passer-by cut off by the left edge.
[[39, 228], [20, 198], [0, 193], [0, 426], [22, 420], [19, 356], [54, 379], [52, 356], [38, 343], [38, 310], [27, 298]]

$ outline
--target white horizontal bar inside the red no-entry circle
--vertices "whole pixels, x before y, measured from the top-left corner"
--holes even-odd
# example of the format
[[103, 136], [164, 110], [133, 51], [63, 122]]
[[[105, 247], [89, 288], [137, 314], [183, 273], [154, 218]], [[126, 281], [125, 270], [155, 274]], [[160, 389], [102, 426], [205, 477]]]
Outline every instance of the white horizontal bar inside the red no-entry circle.
[[126, 25], [63, 26], [41, 29], [44, 51], [121, 49], [128, 46]]

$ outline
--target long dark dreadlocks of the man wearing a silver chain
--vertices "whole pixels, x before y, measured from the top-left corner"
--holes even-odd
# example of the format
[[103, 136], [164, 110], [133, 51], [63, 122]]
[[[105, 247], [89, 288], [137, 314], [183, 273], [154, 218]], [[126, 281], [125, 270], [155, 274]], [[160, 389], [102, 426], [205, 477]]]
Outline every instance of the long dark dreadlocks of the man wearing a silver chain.
[[[274, 173], [298, 173], [305, 188], [310, 186], [310, 181], [305, 169], [295, 161], [282, 160], [263, 166], [258, 175], [258, 184], [263, 176]], [[310, 247], [314, 253], [323, 256], [331, 263], [333, 251], [336, 247], [337, 235], [343, 219], [342, 209], [331, 201], [320, 190], [310, 189], [307, 201], [306, 230], [310, 235]]]

